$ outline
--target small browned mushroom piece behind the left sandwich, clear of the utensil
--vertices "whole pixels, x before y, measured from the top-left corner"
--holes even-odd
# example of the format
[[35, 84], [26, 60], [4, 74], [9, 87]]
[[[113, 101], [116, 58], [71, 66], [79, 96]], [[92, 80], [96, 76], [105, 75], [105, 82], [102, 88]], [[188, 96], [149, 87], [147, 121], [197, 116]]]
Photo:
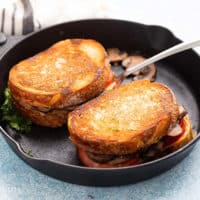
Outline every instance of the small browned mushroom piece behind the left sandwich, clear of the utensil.
[[112, 63], [121, 62], [128, 56], [128, 54], [125, 51], [120, 51], [118, 48], [107, 49], [107, 52], [108, 59]]

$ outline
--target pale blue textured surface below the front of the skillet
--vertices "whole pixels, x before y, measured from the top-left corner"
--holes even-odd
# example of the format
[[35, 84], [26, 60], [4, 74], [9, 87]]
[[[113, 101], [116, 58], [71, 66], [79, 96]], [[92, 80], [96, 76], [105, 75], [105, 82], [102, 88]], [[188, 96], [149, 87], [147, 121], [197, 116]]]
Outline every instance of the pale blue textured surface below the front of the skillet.
[[170, 171], [137, 184], [87, 187], [55, 180], [18, 158], [0, 134], [0, 200], [197, 200], [200, 199], [200, 145]]

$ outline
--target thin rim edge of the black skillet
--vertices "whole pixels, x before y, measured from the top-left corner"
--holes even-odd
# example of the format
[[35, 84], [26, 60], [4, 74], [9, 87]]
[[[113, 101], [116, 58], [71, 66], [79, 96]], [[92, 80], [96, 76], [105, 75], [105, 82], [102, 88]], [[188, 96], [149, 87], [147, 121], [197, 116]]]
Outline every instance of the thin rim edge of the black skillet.
[[[24, 36], [22, 39], [20, 39], [19, 41], [17, 41], [14, 45], [12, 45], [11, 47], [9, 47], [7, 50], [5, 50], [1, 55], [0, 55], [0, 60], [2, 60], [10, 51], [12, 51], [13, 48], [15, 48], [17, 45], [19, 45], [22, 42], [26, 42], [27, 39], [31, 38], [34, 35], [38, 35], [43, 31], [48, 31], [49, 29], [52, 28], [57, 28], [59, 26], [63, 26], [66, 24], [70, 24], [70, 23], [81, 23], [81, 22], [90, 22], [90, 21], [98, 21], [98, 22], [121, 22], [121, 23], [134, 23], [134, 24], [138, 24], [138, 25], [143, 25], [145, 27], [157, 27], [157, 28], [161, 28], [165, 31], [167, 31], [168, 33], [170, 33], [175, 39], [181, 41], [180, 39], [178, 39], [169, 29], [163, 27], [163, 26], [159, 26], [159, 25], [147, 25], [147, 24], [143, 24], [143, 23], [138, 23], [138, 22], [134, 22], [134, 21], [129, 21], [129, 20], [121, 20], [121, 19], [104, 19], [104, 18], [89, 18], [89, 19], [80, 19], [80, 20], [72, 20], [69, 22], [63, 22], [63, 23], [59, 23], [59, 24], [55, 24], [43, 29], [40, 29], [38, 31], [32, 32], [26, 36]], [[191, 50], [193, 51], [193, 50]], [[194, 52], [194, 51], [193, 51]], [[196, 52], [194, 52], [196, 53]], [[198, 53], [196, 53], [198, 55]], [[200, 58], [199, 58], [200, 59]], [[21, 154], [20, 156], [23, 156], [31, 161], [37, 161], [37, 162], [47, 162], [47, 163], [51, 163], [54, 165], [60, 165], [63, 167], [69, 167], [69, 168], [75, 168], [75, 169], [80, 169], [80, 170], [86, 170], [86, 171], [123, 171], [123, 170], [127, 170], [127, 169], [137, 169], [137, 168], [144, 168], [144, 167], [148, 167], [151, 165], [155, 165], [157, 163], [162, 162], [163, 160], [167, 160], [170, 158], [175, 157], [176, 155], [180, 154], [181, 152], [186, 151], [189, 147], [195, 145], [195, 143], [200, 139], [200, 133], [197, 133], [197, 136], [192, 139], [189, 143], [187, 143], [186, 145], [184, 145], [183, 147], [181, 147], [180, 149], [167, 154], [159, 159], [155, 159], [146, 163], [141, 163], [138, 165], [133, 165], [133, 166], [127, 166], [127, 167], [112, 167], [112, 168], [91, 168], [91, 167], [86, 167], [86, 166], [79, 166], [79, 165], [73, 165], [73, 164], [68, 164], [68, 163], [63, 163], [60, 161], [54, 161], [54, 160], [50, 160], [50, 159], [42, 159], [42, 158], [34, 158], [29, 156], [27, 153], [24, 152], [23, 148], [21, 147], [20, 143], [17, 142], [15, 139], [13, 139], [10, 134], [0, 125], [0, 132], [3, 134], [4, 137], [6, 137], [6, 139], [8, 139], [12, 144], [15, 145], [17, 151]], [[30, 164], [29, 164], [30, 165]], [[32, 167], [32, 166], [31, 166]]]

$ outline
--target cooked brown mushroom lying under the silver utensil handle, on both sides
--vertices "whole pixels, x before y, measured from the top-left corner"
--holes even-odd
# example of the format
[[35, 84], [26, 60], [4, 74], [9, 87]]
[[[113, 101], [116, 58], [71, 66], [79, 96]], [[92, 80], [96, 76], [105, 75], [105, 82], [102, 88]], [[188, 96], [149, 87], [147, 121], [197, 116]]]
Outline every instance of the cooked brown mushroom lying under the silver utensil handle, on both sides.
[[[144, 60], [145, 58], [142, 56], [128, 56], [126, 59], [123, 60], [122, 65], [126, 68], [129, 68], [143, 62]], [[154, 81], [156, 76], [156, 67], [154, 64], [151, 64], [141, 70], [133, 72], [132, 75], [134, 75], [133, 80], [146, 79]]]

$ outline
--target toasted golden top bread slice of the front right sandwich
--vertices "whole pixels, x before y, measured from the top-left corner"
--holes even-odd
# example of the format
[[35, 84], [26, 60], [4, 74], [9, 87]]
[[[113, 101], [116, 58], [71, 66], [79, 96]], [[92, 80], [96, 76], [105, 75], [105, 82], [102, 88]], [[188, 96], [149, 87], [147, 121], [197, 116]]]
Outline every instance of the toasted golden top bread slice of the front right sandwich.
[[169, 88], [146, 80], [134, 81], [69, 113], [68, 128], [79, 148], [123, 155], [157, 143], [178, 115], [178, 104]]

